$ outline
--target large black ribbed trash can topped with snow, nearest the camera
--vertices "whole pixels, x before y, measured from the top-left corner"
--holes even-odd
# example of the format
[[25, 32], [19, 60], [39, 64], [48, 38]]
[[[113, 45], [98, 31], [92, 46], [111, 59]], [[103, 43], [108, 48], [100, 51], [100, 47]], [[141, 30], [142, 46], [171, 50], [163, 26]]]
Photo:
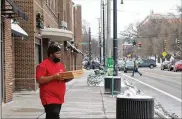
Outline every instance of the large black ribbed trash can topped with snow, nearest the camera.
[[154, 119], [154, 99], [150, 96], [118, 95], [116, 119]]

